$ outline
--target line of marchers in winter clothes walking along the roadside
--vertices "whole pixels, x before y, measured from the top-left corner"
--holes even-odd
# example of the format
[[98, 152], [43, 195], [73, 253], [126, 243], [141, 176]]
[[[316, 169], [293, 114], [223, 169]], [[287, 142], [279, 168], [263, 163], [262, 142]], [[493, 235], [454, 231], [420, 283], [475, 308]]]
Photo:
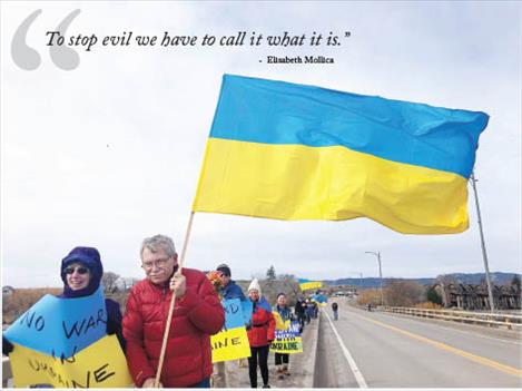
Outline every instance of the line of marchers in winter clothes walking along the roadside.
[[[213, 276], [216, 286], [204, 272], [180, 267], [178, 254], [170, 237], [156, 235], [142, 241], [141, 267], [145, 278], [132, 286], [125, 314], [118, 303], [106, 299], [107, 333], [116, 334], [125, 352], [129, 373], [137, 388], [152, 388], [159, 366], [164, 331], [170, 302], [175, 300], [174, 324], [169, 328], [165, 358], [158, 387], [209, 388], [213, 371], [210, 336], [225, 323], [221, 300], [239, 299], [252, 302], [252, 317], [246, 324], [250, 356], [248, 374], [250, 387], [257, 388], [260, 370], [263, 388], [269, 385], [268, 353], [275, 339], [275, 314], [283, 322], [298, 322], [303, 332], [317, 319], [318, 304], [312, 297], [299, 296], [294, 307], [287, 304], [286, 294], [277, 294], [270, 305], [263, 296], [257, 278], [248, 286], [247, 295], [232, 280], [230, 267], [220, 264]], [[100, 286], [104, 266], [93, 247], [75, 247], [62, 261], [60, 276], [63, 282], [61, 299], [83, 297]], [[337, 304], [332, 306], [337, 320]], [[195, 348], [197, 346], [197, 348]], [[2, 335], [2, 352], [9, 355], [14, 345]], [[277, 380], [290, 375], [289, 354], [275, 353]], [[38, 387], [38, 384], [35, 384]]]

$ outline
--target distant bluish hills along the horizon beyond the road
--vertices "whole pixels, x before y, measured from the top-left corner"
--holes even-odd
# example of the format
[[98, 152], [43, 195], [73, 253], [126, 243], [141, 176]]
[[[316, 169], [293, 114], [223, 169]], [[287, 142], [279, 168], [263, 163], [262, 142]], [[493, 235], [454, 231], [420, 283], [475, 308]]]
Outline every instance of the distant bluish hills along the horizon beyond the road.
[[[485, 273], [452, 273], [452, 274], [446, 274], [446, 275], [455, 278], [457, 282], [463, 283], [463, 284], [480, 284], [482, 280], [485, 281]], [[510, 284], [514, 275], [516, 275], [516, 273], [503, 273], [503, 272], [490, 273], [492, 283], [495, 285]], [[522, 276], [519, 274], [519, 277], [522, 277]], [[385, 285], [387, 281], [392, 281], [392, 280], [414, 281], [421, 285], [429, 285], [429, 284], [433, 284], [436, 278], [427, 278], [427, 277], [426, 278], [383, 278], [383, 284]], [[373, 287], [381, 286], [380, 280], [375, 277], [362, 278], [362, 280], [361, 278], [325, 280], [323, 281], [323, 284], [325, 285], [354, 285], [358, 289], [361, 289], [361, 286], [363, 289], [373, 289]]]

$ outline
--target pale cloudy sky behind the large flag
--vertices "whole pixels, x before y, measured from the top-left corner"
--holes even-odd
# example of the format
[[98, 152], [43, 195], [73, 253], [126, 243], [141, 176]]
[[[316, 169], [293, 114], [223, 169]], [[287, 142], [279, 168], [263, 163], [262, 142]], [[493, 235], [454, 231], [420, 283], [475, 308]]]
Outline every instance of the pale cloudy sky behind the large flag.
[[[14, 31], [41, 9], [28, 71], [11, 58]], [[299, 48], [77, 48], [58, 68], [46, 31], [75, 9], [67, 35], [339, 36]], [[481, 110], [491, 116], [475, 165], [490, 270], [521, 271], [520, 2], [2, 2], [2, 283], [59, 286], [61, 258], [97, 247], [106, 271], [141, 277], [144, 237], [181, 248], [223, 74]], [[349, 31], [349, 38], [345, 38]], [[332, 57], [333, 65], [268, 65], [266, 56]], [[263, 62], [259, 62], [263, 60]], [[432, 277], [483, 272], [475, 204], [457, 235], [402, 235], [366, 218], [279, 222], [196, 214], [186, 266], [226, 262], [233, 277], [274, 265], [305, 278]]]

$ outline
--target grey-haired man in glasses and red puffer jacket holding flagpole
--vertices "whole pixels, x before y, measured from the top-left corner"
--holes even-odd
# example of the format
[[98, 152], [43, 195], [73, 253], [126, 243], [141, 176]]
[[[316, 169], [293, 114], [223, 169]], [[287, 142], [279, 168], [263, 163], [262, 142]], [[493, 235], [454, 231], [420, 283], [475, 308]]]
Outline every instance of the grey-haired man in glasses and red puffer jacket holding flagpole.
[[127, 363], [136, 387], [151, 388], [173, 293], [176, 303], [161, 370], [161, 387], [209, 387], [210, 335], [221, 330], [225, 313], [204, 273], [183, 268], [170, 237], [141, 244], [146, 278], [132, 286], [124, 316]]

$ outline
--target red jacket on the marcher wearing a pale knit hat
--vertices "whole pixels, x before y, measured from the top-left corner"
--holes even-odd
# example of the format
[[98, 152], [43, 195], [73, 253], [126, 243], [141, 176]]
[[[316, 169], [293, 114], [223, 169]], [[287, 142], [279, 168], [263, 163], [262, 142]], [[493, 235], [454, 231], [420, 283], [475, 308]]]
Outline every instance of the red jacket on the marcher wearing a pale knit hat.
[[253, 303], [252, 326], [247, 331], [250, 346], [266, 346], [274, 341], [276, 321], [272, 313], [270, 305], [262, 297]]

